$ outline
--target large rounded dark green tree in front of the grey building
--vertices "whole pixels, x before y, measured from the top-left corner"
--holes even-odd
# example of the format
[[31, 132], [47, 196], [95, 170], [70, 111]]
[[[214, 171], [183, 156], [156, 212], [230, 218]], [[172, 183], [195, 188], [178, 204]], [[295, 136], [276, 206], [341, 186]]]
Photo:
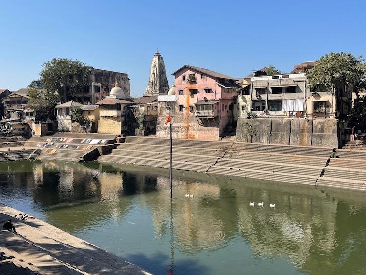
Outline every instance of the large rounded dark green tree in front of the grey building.
[[67, 58], [54, 58], [43, 63], [40, 82], [48, 92], [58, 92], [61, 102], [67, 101], [67, 94], [83, 92], [90, 84], [90, 69], [83, 62]]

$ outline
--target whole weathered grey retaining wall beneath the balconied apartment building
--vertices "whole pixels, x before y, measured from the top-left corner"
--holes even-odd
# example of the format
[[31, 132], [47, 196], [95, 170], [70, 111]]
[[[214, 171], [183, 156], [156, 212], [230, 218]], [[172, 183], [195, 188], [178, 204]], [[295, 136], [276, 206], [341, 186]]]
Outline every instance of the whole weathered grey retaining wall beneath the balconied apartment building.
[[338, 148], [337, 119], [239, 119], [236, 140]]

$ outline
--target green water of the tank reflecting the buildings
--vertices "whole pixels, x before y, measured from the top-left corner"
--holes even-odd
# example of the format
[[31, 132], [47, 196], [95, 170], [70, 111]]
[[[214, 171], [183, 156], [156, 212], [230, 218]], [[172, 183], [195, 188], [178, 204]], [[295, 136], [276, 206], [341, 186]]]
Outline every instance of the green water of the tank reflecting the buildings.
[[366, 194], [173, 176], [171, 203], [164, 169], [1, 163], [0, 202], [155, 274], [366, 274]]

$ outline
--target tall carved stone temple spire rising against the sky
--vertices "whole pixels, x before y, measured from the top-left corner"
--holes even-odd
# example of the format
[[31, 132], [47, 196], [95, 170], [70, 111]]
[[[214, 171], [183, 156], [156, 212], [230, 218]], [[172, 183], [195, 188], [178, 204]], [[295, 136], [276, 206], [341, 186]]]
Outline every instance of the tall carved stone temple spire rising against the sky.
[[167, 94], [169, 90], [163, 57], [156, 51], [151, 61], [150, 78], [144, 96]]

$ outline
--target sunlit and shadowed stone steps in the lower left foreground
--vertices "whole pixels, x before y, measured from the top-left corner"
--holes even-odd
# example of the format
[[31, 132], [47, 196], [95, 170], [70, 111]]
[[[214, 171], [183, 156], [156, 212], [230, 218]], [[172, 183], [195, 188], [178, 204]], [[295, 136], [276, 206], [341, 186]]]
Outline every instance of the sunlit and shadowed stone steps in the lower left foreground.
[[[0, 204], [0, 224], [12, 219], [17, 233], [0, 230], [0, 275], [149, 275], [123, 259], [38, 219]], [[2, 227], [1, 227], [2, 229]]]

